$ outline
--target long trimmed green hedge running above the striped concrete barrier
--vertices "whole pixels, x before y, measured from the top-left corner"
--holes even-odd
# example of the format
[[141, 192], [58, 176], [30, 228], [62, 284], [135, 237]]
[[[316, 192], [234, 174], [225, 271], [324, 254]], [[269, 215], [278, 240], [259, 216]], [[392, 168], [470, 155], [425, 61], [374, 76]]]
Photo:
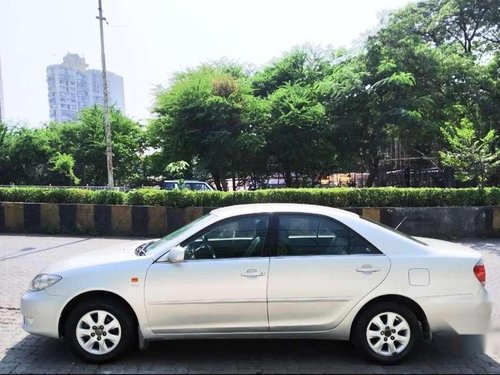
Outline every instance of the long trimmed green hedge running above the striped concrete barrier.
[[332, 207], [498, 206], [500, 188], [333, 188], [272, 189], [242, 192], [193, 192], [137, 189], [0, 188], [0, 201], [40, 203], [130, 204], [167, 207], [221, 207], [243, 203], [309, 203]]

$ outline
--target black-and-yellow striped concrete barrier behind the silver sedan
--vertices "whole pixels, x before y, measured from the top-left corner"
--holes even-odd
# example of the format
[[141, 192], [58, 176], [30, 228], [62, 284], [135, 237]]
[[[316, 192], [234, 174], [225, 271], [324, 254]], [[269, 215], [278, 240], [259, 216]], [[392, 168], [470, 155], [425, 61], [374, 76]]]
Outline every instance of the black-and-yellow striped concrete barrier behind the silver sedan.
[[[98, 204], [0, 202], [0, 232], [164, 236], [211, 207], [171, 208]], [[500, 207], [345, 208], [410, 235], [437, 238], [500, 237]]]

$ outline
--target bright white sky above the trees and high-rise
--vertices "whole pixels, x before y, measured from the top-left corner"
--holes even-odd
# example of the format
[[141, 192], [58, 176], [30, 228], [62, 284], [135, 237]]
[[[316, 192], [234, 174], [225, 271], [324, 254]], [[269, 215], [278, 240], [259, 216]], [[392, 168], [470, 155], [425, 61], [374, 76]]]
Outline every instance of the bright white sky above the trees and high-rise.
[[[410, 0], [103, 0], [108, 71], [124, 78], [126, 114], [150, 117], [172, 73], [228, 58], [261, 66], [296, 45], [350, 47], [384, 10]], [[5, 117], [49, 119], [45, 68], [68, 53], [101, 68], [97, 0], [0, 0]]]

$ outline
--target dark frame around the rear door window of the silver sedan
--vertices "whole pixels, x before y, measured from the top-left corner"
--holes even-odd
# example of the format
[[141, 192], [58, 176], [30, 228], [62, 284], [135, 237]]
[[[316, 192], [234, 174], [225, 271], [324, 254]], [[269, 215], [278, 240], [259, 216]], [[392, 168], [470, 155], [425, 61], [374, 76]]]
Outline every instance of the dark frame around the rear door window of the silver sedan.
[[[310, 254], [310, 255], [278, 255], [278, 239], [279, 239], [279, 217], [280, 215], [301, 215], [301, 216], [311, 216], [311, 217], [321, 217], [327, 220], [332, 220], [336, 224], [342, 226], [348, 231], [353, 232], [362, 240], [366, 241], [377, 253], [374, 254]], [[366, 237], [359, 234], [357, 231], [349, 227], [347, 224], [344, 224], [340, 220], [324, 214], [310, 213], [310, 212], [274, 212], [272, 215], [272, 221], [270, 222], [270, 226], [272, 227], [272, 236], [271, 236], [271, 258], [309, 258], [309, 257], [339, 257], [339, 256], [386, 256], [383, 251], [381, 251], [377, 246], [375, 246], [371, 241], [367, 240]]]

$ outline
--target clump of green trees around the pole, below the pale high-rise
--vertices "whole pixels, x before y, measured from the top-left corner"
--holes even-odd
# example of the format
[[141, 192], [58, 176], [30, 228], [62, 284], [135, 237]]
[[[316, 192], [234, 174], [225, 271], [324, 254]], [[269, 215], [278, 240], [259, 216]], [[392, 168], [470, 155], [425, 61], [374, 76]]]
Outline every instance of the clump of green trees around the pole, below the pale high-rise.
[[[143, 130], [115, 109], [111, 110], [111, 126], [116, 180], [128, 183], [140, 170]], [[84, 109], [74, 122], [52, 122], [35, 129], [24, 126], [2, 129], [2, 183], [106, 184], [106, 146], [100, 107]]]

